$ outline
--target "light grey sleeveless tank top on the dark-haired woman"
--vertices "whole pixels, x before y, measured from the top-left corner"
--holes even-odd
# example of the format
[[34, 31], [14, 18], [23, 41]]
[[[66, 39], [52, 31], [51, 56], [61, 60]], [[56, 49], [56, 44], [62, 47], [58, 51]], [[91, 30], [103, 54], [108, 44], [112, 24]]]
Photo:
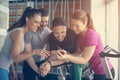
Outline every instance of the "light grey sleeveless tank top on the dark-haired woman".
[[[15, 30], [21, 30], [21, 28], [16, 28], [16, 29], [8, 32], [8, 34], [5, 38], [3, 47], [0, 51], [0, 68], [6, 69], [8, 71], [9, 71], [10, 65], [13, 63], [12, 53], [11, 53], [13, 43], [10, 38], [10, 34], [11, 34], [11, 32], [13, 32]], [[22, 45], [21, 45], [21, 52], [23, 52], [23, 50], [24, 50], [24, 39], [23, 39]]]

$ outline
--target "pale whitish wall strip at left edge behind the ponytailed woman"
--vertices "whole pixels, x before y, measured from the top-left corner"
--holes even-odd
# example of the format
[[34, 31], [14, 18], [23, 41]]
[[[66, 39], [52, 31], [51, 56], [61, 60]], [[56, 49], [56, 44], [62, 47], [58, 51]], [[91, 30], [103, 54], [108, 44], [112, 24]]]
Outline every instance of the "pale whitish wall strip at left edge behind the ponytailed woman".
[[3, 45], [4, 38], [6, 35], [6, 29], [9, 24], [9, 8], [8, 0], [0, 1], [0, 49]]

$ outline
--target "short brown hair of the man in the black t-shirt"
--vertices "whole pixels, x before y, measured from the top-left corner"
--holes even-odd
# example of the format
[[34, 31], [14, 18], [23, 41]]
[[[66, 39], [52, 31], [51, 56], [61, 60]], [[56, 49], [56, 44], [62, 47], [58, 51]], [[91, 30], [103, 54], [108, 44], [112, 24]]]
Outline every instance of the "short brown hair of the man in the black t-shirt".
[[57, 17], [52, 21], [52, 28], [56, 26], [67, 26], [66, 21], [61, 17]]

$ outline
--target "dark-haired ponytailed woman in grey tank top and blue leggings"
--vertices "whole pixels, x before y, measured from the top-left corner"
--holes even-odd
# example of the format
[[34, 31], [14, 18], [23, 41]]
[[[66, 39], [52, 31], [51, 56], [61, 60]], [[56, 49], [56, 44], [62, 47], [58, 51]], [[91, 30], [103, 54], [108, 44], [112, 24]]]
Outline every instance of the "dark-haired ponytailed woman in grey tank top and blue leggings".
[[[34, 54], [43, 54], [39, 49], [23, 53], [24, 34], [28, 31], [35, 32], [40, 21], [40, 12], [27, 7], [20, 20], [8, 29], [5, 43], [0, 51], [0, 80], [9, 80], [9, 67], [13, 62], [23, 61]], [[47, 55], [47, 52], [45, 54]]]

